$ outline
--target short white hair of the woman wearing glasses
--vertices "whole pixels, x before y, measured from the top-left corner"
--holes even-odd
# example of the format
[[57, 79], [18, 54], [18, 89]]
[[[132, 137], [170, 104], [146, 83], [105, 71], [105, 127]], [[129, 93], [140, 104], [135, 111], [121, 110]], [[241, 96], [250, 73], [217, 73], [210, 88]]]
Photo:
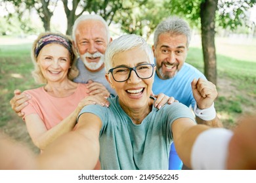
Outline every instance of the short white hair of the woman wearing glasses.
[[108, 71], [112, 68], [113, 62], [112, 59], [114, 56], [120, 52], [125, 52], [131, 50], [135, 47], [142, 48], [148, 56], [150, 63], [154, 63], [154, 54], [148, 43], [139, 35], [122, 35], [121, 37], [115, 39], [114, 41], [108, 44], [105, 52], [105, 71]]

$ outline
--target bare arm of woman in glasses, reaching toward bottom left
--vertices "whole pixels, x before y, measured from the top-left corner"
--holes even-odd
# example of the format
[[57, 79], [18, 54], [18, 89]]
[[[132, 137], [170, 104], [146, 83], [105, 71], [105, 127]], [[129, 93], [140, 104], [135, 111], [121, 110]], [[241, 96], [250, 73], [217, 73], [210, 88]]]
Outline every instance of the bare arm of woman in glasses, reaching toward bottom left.
[[98, 141], [102, 122], [91, 113], [81, 114], [75, 131], [47, 146], [39, 156], [39, 169], [94, 169], [100, 154]]

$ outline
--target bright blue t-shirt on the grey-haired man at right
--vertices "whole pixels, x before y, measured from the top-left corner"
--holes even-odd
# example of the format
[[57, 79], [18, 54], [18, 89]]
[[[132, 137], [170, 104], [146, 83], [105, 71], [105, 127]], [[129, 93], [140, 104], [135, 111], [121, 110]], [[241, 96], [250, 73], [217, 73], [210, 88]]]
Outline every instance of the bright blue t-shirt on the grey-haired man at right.
[[152, 90], [156, 95], [164, 93], [169, 97], [174, 97], [187, 107], [192, 105], [194, 108], [196, 101], [191, 88], [191, 82], [194, 78], [203, 78], [206, 80], [203, 73], [198, 71], [198, 69], [188, 63], [184, 63], [177, 75], [171, 79], [162, 80], [155, 74]]

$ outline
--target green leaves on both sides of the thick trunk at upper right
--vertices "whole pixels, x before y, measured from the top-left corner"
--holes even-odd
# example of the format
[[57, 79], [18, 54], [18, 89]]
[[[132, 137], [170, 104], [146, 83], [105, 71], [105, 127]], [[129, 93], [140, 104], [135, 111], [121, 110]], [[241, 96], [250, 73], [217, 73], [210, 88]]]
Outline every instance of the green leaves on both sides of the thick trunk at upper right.
[[[169, 0], [165, 5], [172, 14], [182, 16], [190, 22], [190, 25], [200, 27], [200, 4], [204, 0]], [[218, 1], [218, 10], [216, 12], [216, 25], [236, 29], [244, 25], [247, 20], [247, 10], [256, 5], [255, 0], [237, 0], [237, 1]]]

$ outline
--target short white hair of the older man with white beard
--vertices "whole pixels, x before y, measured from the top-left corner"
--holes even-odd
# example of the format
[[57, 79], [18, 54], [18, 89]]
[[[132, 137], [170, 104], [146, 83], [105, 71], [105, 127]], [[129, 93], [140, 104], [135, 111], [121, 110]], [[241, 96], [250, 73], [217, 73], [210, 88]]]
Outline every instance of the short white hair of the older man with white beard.
[[86, 20], [98, 20], [102, 22], [102, 24], [104, 24], [106, 28], [108, 43], [110, 42], [110, 30], [108, 29], [108, 24], [106, 23], [106, 20], [104, 20], [104, 18], [102, 18], [102, 16], [99, 16], [98, 14], [82, 14], [75, 20], [75, 23], [72, 29], [72, 38], [74, 42], [75, 42], [75, 31], [77, 29], [77, 26], [80, 24], [80, 22], [83, 22]]

